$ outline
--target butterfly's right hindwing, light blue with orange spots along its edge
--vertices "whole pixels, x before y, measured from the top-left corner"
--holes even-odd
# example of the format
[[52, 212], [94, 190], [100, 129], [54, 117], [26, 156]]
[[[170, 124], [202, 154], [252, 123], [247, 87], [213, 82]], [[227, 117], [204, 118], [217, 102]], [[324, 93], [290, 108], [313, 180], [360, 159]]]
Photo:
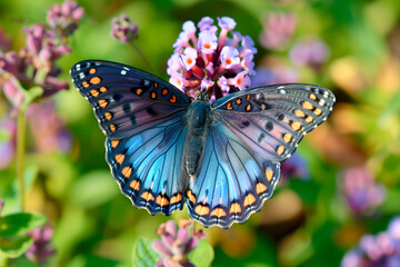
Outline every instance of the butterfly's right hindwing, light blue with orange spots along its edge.
[[200, 172], [186, 191], [190, 217], [206, 227], [244, 222], [272, 196], [279, 166], [257, 155], [223, 122], [213, 121]]

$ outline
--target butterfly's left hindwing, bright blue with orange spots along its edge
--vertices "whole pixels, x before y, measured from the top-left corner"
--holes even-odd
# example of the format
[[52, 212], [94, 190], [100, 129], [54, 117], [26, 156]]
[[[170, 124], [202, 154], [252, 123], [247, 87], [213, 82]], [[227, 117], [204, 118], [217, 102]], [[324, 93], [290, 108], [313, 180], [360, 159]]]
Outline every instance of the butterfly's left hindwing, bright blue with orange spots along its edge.
[[180, 117], [132, 137], [106, 140], [107, 161], [121, 191], [151, 215], [182, 209], [186, 184], [180, 176], [187, 128]]

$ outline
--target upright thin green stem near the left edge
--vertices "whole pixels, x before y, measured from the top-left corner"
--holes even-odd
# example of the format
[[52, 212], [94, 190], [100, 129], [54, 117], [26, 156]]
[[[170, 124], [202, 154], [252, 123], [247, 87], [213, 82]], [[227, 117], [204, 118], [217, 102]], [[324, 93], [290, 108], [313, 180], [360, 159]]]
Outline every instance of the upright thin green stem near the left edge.
[[17, 177], [22, 212], [26, 210], [24, 202], [24, 152], [26, 152], [26, 109], [21, 108], [17, 118]]

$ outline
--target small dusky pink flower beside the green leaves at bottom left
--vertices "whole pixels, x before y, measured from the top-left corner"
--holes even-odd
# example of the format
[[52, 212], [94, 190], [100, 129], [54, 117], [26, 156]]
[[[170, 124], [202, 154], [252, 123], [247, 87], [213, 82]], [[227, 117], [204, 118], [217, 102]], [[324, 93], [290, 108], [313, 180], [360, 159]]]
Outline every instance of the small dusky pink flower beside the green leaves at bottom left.
[[51, 226], [43, 226], [28, 234], [33, 237], [33, 244], [27, 251], [27, 257], [30, 260], [41, 264], [56, 253], [50, 244], [52, 234], [53, 228]]

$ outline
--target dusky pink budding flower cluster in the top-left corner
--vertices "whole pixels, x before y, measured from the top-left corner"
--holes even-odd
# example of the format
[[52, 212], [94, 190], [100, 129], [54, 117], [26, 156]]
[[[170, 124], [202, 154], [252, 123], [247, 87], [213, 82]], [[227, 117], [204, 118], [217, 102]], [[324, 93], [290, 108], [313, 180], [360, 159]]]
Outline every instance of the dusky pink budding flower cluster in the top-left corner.
[[[62, 16], [54, 14], [59, 9]], [[49, 19], [49, 23], [52, 23], [51, 27], [62, 24], [63, 29], [69, 29], [71, 32], [82, 14], [81, 8], [67, 0], [61, 7], [56, 4], [49, 9], [49, 18], [52, 18]], [[66, 19], [69, 17], [74, 19]], [[39, 86], [43, 89], [43, 97], [69, 88], [66, 80], [58, 79], [61, 71], [56, 66], [56, 61], [71, 52], [71, 49], [58, 39], [57, 32], [47, 29], [44, 24], [39, 23], [27, 28], [24, 33], [27, 34], [26, 48], [18, 52], [0, 52], [0, 76], [2, 77], [0, 86], [16, 108], [19, 108], [23, 101], [23, 88]]]

